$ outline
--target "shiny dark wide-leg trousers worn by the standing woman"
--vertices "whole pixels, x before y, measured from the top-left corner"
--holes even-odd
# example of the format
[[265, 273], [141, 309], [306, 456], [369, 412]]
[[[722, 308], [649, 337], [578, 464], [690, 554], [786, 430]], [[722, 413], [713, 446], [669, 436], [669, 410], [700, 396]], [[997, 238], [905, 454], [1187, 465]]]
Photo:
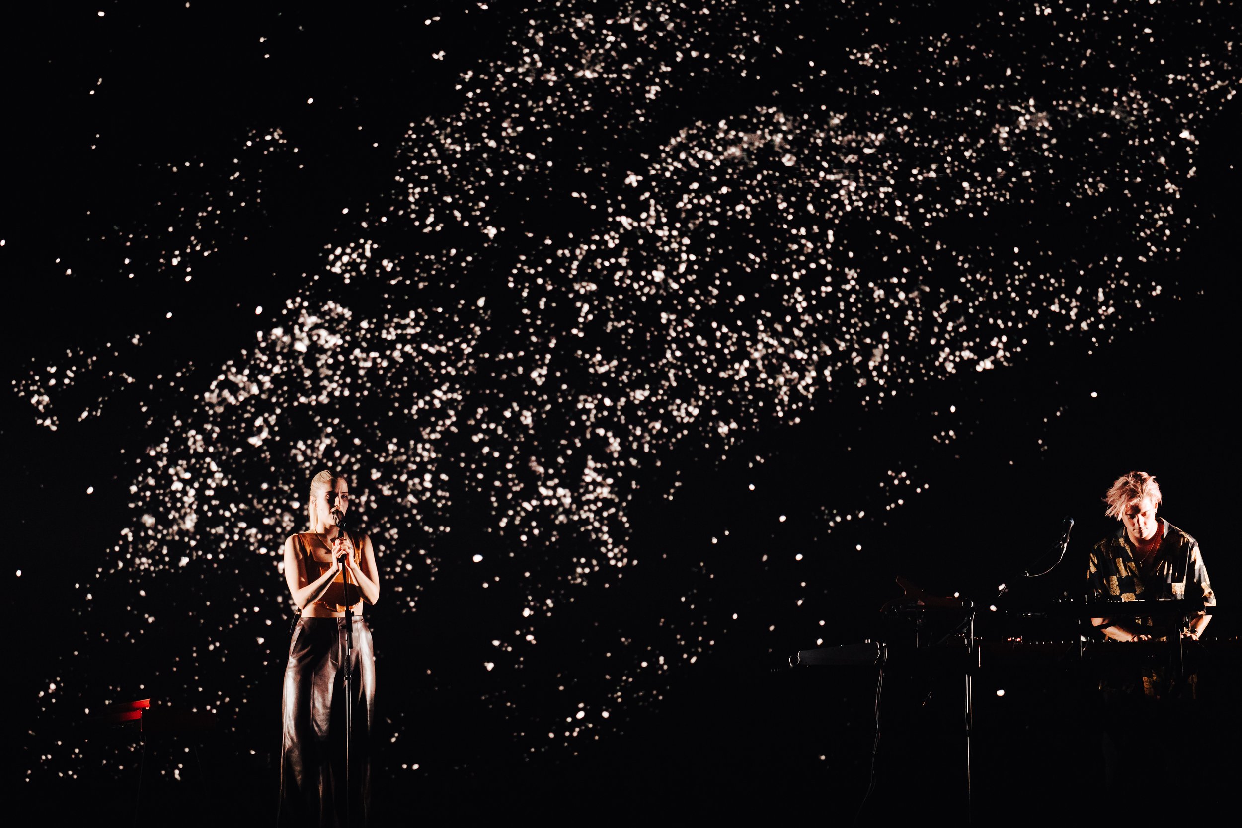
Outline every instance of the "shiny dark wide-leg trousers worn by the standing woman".
[[284, 667], [278, 824], [365, 826], [370, 811], [370, 741], [375, 716], [371, 631], [353, 618], [349, 811], [345, 817], [345, 624], [349, 618], [298, 619]]

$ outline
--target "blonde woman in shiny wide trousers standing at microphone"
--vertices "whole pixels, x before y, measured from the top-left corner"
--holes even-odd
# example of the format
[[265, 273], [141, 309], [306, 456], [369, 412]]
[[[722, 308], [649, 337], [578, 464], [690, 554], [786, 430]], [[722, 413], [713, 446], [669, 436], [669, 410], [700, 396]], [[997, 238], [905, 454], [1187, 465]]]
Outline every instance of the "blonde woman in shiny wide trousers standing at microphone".
[[[363, 602], [379, 600], [380, 578], [370, 539], [342, 529], [348, 514], [345, 479], [319, 472], [310, 480], [307, 502], [310, 531], [284, 541], [284, 581], [301, 617], [284, 667], [281, 826], [364, 826], [370, 808], [375, 655]], [[347, 634], [353, 636], [348, 700], [343, 680]], [[347, 704], [353, 731], [348, 773]]]

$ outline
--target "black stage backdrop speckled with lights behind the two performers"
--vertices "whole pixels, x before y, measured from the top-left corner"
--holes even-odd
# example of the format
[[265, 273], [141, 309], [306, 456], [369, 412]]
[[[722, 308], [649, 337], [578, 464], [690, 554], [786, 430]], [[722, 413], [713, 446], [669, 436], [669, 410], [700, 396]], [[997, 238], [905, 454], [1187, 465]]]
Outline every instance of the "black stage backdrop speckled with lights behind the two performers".
[[[898, 575], [985, 607], [1002, 581], [1078, 596], [1130, 468], [1202, 544], [1212, 637], [1237, 636], [1235, 10], [689, 6], [101, 4], [14, 32], [9, 782], [31, 817], [128, 819], [134, 736], [84, 721], [152, 698], [219, 724], [199, 754], [148, 746], [139, 822], [272, 821], [292, 617], [272, 550], [328, 463], [388, 578], [368, 611], [379, 824], [846, 823], [876, 672], [785, 659], [908, 638], [878, 612]], [[712, 212], [725, 185], [745, 204]], [[658, 233], [678, 215], [698, 262], [679, 286]], [[610, 238], [630, 261], [604, 259]], [[836, 294], [815, 295], [816, 259]], [[349, 374], [376, 359], [360, 320], [409, 359]], [[717, 322], [741, 340], [697, 351]], [[308, 350], [282, 344], [294, 329]], [[420, 350], [440, 341], [461, 354]], [[596, 418], [604, 397], [628, 421]], [[529, 523], [502, 523], [504, 493], [539, 485]], [[1021, 583], [1064, 515], [1066, 562]], [[1077, 634], [989, 612], [980, 632]], [[930, 679], [887, 682], [867, 819], [961, 814], [960, 679], [919, 715]], [[1099, 780], [1084, 709], [1046, 674], [977, 686], [980, 821], [1078, 813]], [[1213, 750], [1232, 686], [1195, 725]], [[1210, 796], [1222, 760], [1153, 785]]]

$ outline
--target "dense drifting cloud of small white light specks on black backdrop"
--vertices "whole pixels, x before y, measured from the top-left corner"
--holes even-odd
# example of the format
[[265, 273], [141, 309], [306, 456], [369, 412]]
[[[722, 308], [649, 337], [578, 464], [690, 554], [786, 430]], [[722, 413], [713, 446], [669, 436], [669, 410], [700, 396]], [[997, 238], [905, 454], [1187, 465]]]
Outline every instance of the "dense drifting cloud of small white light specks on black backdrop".
[[[626, 588], [645, 560], [628, 508], [673, 495], [652, 483], [673, 447], [728, 458], [842, 384], [877, 406], [1030, 343], [1089, 350], [1176, 294], [1146, 266], [1192, 231], [1180, 199], [1199, 124], [1236, 93], [1236, 31], [1207, 6], [1212, 27], [1167, 2], [1007, 4], [928, 34], [878, 4], [592, 5], [503, 17], [509, 42], [461, 77], [460, 112], [410, 125], [391, 187], [351, 232], [314, 241], [322, 271], [257, 310], [252, 346], [226, 364], [132, 390], [134, 330], [17, 384], [48, 428], [145, 395], [150, 444], [123, 458], [132, 519], [81, 588], [135, 595], [117, 624], [128, 642], [147, 624], [193, 631], [153, 664], [193, 706], [227, 721], [252, 693], [224, 664], [237, 648], [283, 659], [282, 541], [304, 529], [308, 478], [334, 467], [412, 631], [443, 570], [479, 592], [520, 580], [519, 600], [488, 610], [494, 636], [460, 642], [478, 670], [510, 674], [481, 704], [508, 706], [517, 751], [606, 739], [710, 653], [732, 610], [703, 601], [693, 629], [640, 610], [646, 641], [570, 668], [606, 669], [590, 698], [556, 691], [561, 672], [522, 672], [523, 654], [565, 602]], [[1165, 47], [1189, 31], [1200, 51]], [[737, 96], [688, 107], [708, 81]], [[232, 243], [214, 216], [261, 197], [268, 153], [296, 153], [278, 128], [243, 143], [201, 196], [183, 194], [188, 211], [143, 228], [116, 278], [142, 256], [191, 279]], [[889, 472], [881, 499], [859, 492], [825, 524], [928, 484]], [[447, 557], [467, 504], [494, 544]], [[143, 601], [174, 582], [204, 603]], [[108, 696], [71, 664], [45, 711]], [[399, 766], [428, 763], [411, 745]]]

